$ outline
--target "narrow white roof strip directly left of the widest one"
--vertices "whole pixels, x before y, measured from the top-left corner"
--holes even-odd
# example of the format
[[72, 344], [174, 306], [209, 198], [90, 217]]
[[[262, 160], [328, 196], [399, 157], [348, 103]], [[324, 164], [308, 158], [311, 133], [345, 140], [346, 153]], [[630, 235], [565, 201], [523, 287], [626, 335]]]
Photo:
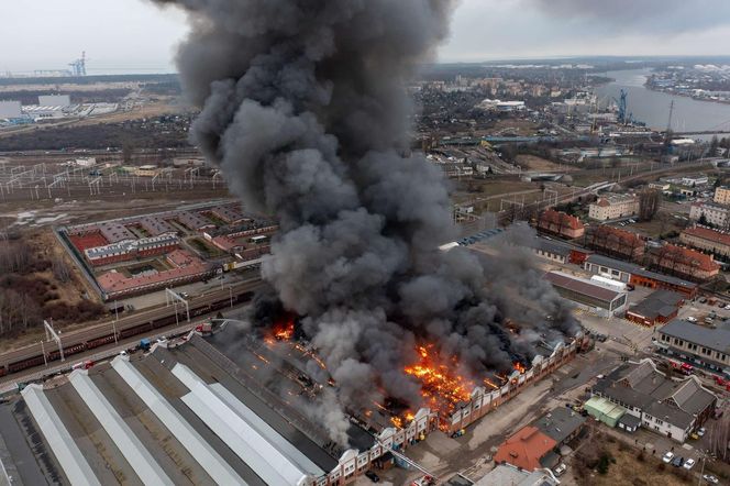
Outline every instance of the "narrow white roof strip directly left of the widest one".
[[246, 484], [165, 397], [142, 376], [140, 371], [129, 362], [129, 358], [117, 356], [111, 365], [215, 483], [222, 485]]

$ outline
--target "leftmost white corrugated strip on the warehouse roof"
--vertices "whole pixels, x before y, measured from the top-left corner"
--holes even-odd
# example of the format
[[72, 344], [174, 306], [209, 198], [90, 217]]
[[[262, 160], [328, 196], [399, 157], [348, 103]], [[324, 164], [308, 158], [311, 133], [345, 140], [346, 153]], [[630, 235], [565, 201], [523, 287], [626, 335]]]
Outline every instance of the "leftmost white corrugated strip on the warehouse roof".
[[22, 391], [33, 419], [73, 485], [101, 486], [91, 466], [66, 430], [58, 413], [43, 393], [42, 385], [29, 385]]

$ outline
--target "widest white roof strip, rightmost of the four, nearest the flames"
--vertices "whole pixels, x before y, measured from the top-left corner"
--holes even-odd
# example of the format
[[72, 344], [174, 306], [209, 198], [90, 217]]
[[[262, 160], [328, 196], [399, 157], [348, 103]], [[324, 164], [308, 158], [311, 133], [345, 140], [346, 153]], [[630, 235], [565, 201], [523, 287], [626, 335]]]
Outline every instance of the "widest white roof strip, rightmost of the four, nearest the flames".
[[[275, 435], [267, 437], [253, 427], [189, 367], [178, 363], [173, 374], [190, 389], [182, 401], [267, 484], [298, 485], [307, 481], [308, 472], [283, 448], [269, 442]], [[281, 441], [279, 437], [279, 445]]]

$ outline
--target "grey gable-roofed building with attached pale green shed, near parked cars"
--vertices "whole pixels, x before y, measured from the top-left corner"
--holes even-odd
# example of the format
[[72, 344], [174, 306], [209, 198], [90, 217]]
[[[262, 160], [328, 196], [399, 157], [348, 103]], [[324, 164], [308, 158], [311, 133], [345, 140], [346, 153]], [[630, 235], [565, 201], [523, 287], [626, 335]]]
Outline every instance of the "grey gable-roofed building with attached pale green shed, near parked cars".
[[697, 377], [670, 378], [656, 369], [651, 358], [619, 366], [598, 379], [591, 395], [620, 407], [618, 412], [616, 408], [607, 412], [609, 405], [605, 400], [586, 404], [588, 413], [606, 417], [599, 420], [609, 426], [616, 427], [628, 413], [641, 420], [642, 427], [677, 442], [685, 442], [701, 427], [717, 404], [717, 397]]

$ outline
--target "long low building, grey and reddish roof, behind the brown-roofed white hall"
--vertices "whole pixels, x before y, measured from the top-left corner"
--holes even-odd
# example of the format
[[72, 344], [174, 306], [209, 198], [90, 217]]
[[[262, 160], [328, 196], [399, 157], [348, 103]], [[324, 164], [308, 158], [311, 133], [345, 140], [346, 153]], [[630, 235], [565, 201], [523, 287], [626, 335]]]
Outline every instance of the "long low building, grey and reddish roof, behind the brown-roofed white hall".
[[587, 256], [584, 262], [584, 268], [594, 275], [608, 276], [615, 280], [623, 281], [637, 287], [676, 291], [688, 299], [695, 298], [699, 288], [698, 285], [693, 281], [650, 272], [639, 265], [601, 255]]

